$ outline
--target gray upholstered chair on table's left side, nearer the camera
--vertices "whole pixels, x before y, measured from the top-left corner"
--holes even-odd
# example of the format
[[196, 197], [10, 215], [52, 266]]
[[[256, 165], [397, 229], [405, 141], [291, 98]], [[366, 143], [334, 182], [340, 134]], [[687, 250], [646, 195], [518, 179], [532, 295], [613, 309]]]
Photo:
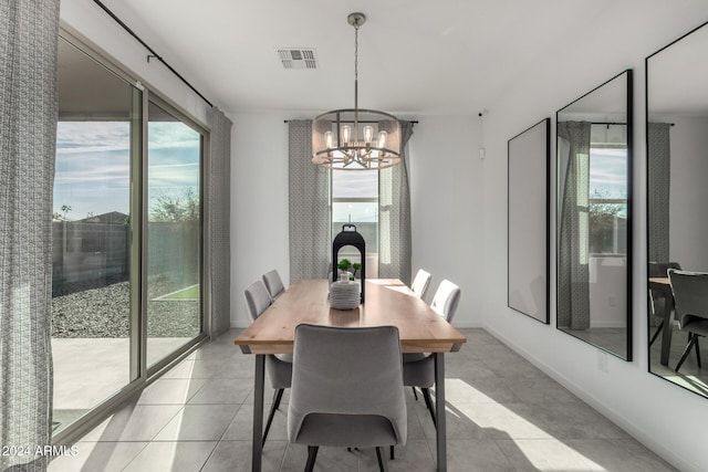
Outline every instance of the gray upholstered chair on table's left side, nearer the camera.
[[[271, 303], [273, 303], [273, 300], [262, 281], [256, 281], [247, 286], [243, 294], [246, 296], [248, 313], [253, 322], [271, 305]], [[273, 402], [271, 403], [270, 412], [268, 413], [268, 421], [266, 422], [266, 429], [263, 430], [263, 444], [266, 444], [266, 438], [268, 438], [268, 432], [270, 431], [270, 427], [273, 422], [275, 411], [280, 407], [283, 392], [287, 388], [290, 388], [290, 381], [292, 378], [292, 355], [267, 355], [266, 371], [268, 373], [270, 384], [275, 391], [273, 392]]]

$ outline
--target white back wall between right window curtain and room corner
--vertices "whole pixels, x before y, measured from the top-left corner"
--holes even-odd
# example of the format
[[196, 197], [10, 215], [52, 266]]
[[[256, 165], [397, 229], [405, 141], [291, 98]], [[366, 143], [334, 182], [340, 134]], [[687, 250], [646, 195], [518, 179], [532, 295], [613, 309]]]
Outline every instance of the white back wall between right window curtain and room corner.
[[423, 116], [409, 141], [412, 268], [462, 291], [457, 326], [479, 326], [482, 296], [481, 124], [477, 116]]

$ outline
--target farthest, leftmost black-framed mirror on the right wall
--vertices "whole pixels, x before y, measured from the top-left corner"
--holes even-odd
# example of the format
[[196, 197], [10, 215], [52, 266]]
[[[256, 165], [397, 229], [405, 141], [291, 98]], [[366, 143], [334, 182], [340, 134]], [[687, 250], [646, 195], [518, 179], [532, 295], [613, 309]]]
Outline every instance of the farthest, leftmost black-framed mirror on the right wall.
[[508, 143], [508, 305], [549, 323], [551, 118]]

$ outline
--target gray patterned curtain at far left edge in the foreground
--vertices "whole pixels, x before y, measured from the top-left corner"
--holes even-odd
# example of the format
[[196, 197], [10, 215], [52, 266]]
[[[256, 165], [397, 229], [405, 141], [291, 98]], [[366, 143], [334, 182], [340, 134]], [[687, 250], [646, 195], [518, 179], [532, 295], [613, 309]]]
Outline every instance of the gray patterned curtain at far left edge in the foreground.
[[58, 0], [0, 3], [0, 470], [46, 470]]

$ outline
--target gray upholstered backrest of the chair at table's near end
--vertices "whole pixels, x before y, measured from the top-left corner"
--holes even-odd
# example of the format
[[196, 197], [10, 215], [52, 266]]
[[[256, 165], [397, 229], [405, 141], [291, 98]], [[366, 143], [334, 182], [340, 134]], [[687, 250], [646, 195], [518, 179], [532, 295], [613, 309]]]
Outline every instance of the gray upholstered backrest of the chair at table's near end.
[[[386, 426], [388, 430], [393, 428], [397, 443], [405, 443], [407, 420], [398, 328], [301, 324], [295, 327], [293, 349], [290, 442], [298, 442], [309, 415], [324, 413], [381, 417], [391, 423]], [[362, 431], [351, 434], [361, 437]], [[357, 445], [347, 443], [347, 438], [329, 438], [327, 442], [322, 445]]]

